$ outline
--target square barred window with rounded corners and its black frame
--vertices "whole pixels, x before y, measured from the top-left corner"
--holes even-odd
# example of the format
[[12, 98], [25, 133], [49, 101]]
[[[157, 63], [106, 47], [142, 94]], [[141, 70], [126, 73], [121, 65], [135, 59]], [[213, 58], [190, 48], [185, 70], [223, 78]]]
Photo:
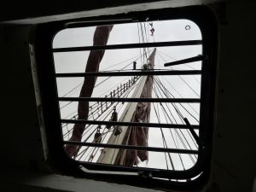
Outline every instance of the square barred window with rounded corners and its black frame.
[[154, 189], [206, 183], [215, 25], [196, 6], [38, 26], [38, 83], [55, 168]]

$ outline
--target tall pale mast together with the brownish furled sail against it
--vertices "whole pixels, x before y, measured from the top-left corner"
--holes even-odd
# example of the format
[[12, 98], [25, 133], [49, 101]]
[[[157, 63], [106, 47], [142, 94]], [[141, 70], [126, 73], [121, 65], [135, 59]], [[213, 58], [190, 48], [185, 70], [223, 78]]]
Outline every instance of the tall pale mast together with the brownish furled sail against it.
[[[154, 56], [156, 49], [148, 58], [148, 64], [143, 70], [154, 69]], [[137, 83], [131, 97], [150, 98], [152, 97], [153, 76], [142, 76]], [[128, 102], [126, 108], [119, 118], [119, 122], [142, 122], [148, 123], [150, 118], [150, 102]], [[148, 127], [121, 126], [122, 132], [115, 135], [114, 132], [108, 139], [108, 144], [123, 144], [148, 146]], [[137, 165], [137, 158], [148, 160], [147, 151], [124, 150], [119, 148], [104, 148], [98, 158], [98, 163], [115, 164], [121, 166]]]

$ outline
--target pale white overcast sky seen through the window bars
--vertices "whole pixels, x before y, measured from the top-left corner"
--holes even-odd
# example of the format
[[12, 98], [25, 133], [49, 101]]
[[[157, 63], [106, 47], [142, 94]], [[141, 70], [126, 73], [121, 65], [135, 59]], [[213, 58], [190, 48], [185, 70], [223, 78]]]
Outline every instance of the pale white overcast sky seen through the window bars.
[[[201, 31], [198, 26], [195, 25], [194, 22], [190, 20], [166, 20], [166, 21], [154, 21], [154, 38], [150, 36], [150, 26], [148, 22], [145, 22], [146, 32], [148, 34], [147, 38], [149, 42], [164, 42], [164, 41], [178, 41], [178, 40], [199, 40], [201, 39]], [[144, 24], [143, 24], [144, 26]], [[190, 26], [189, 30], [185, 29], [185, 26]], [[63, 48], [63, 47], [77, 47], [77, 46], [91, 46], [92, 38], [96, 27], [82, 27], [82, 28], [72, 28], [65, 29], [61, 32], [58, 32], [53, 41], [53, 48]], [[112, 32], [110, 32], [110, 36], [108, 39], [108, 44], [134, 44], [138, 43], [138, 27], [137, 23], [131, 24], [119, 24], [114, 25]], [[142, 39], [140, 39], [142, 42]], [[151, 49], [151, 48], [150, 48]], [[141, 49], [142, 51], [142, 49]], [[157, 69], [166, 69], [164, 67], [165, 62], [170, 62], [174, 60], [184, 59], [195, 55], [202, 54], [201, 45], [193, 45], [193, 46], [177, 46], [177, 47], [160, 47], [157, 48], [157, 54], [155, 56], [155, 67]], [[55, 53], [55, 72], [56, 73], [84, 73], [84, 68], [86, 65], [86, 61], [88, 59], [89, 51], [77, 51], [77, 52], [66, 52], [66, 53]], [[140, 56], [140, 49], [114, 49], [114, 50], [106, 50], [105, 55], [100, 64], [100, 70], [118, 70], [122, 67], [125, 67], [130, 62], [137, 59]], [[131, 59], [133, 58], [133, 59]], [[129, 60], [130, 61], [126, 61]], [[117, 65], [116, 67], [111, 67], [114, 64], [125, 61], [122, 64]], [[143, 60], [137, 60], [137, 68], [142, 66]], [[125, 68], [131, 69], [132, 65]], [[171, 69], [168, 67], [168, 69]], [[181, 69], [181, 70], [191, 70], [191, 69], [201, 69], [201, 62], [189, 63], [188, 65], [180, 65], [172, 67], [172, 69]], [[101, 82], [106, 77], [98, 78], [97, 82]], [[111, 78], [106, 83], [101, 84], [96, 87], [93, 92], [93, 96], [101, 96], [102, 93], [108, 91], [110, 88], [115, 87], [116, 84], [119, 84], [120, 81], [127, 79], [127, 77], [119, 77], [119, 78]], [[160, 76], [160, 80], [162, 84], [169, 90], [173, 96], [178, 97], [189, 97], [189, 98], [199, 98], [201, 91], [201, 76], [197, 75], [194, 77], [191, 76], [172, 76], [165, 77]], [[126, 82], [127, 80], [125, 80]], [[57, 79], [58, 86], [58, 94], [59, 96], [63, 96], [69, 90], [72, 90], [78, 84], [83, 82], [83, 78], [67, 78], [67, 79]], [[186, 84], [187, 83], [187, 84]], [[189, 86], [193, 88], [191, 90]], [[81, 86], [79, 86], [74, 92], [73, 95], [67, 96], [79, 96]], [[112, 89], [113, 90], [113, 89]], [[178, 92], [178, 93], [177, 93]], [[109, 91], [107, 92], [109, 94]], [[67, 102], [61, 102], [60, 106], [64, 106]], [[67, 117], [70, 113], [73, 113], [77, 110], [78, 102], [73, 102], [69, 104], [67, 107], [61, 109], [61, 118]], [[195, 111], [199, 113], [199, 104], [191, 104]], [[184, 107], [189, 110], [190, 113], [195, 115], [196, 118], [199, 119], [199, 114], [195, 113], [189, 107], [188, 104], [184, 104]], [[188, 113], [186, 113], [183, 108], [179, 108], [183, 115], [189, 119], [189, 122], [192, 125], [198, 125], [197, 121], [193, 119]], [[173, 108], [171, 108], [174, 111]], [[174, 113], [174, 112], [173, 112]], [[76, 113], [73, 113], [69, 118], [71, 118]], [[176, 119], [177, 115], [173, 114]], [[175, 116], [176, 115], [176, 116]], [[119, 113], [120, 116], [120, 113]], [[106, 119], [108, 120], [108, 119]], [[160, 123], [167, 123], [164, 119], [164, 114], [160, 112]], [[156, 118], [156, 114], [154, 113], [154, 108], [151, 106], [151, 119], [150, 122], [157, 123], [158, 120]], [[181, 124], [181, 120], [177, 120], [178, 124]], [[68, 129], [72, 128], [73, 125], [68, 126]], [[172, 130], [174, 141], [171, 137], [170, 131], [168, 129], [163, 129], [164, 134], [166, 136], [166, 143], [169, 148], [176, 148], [175, 143], [178, 145], [178, 148], [184, 148], [181, 141], [179, 141], [177, 137], [177, 133]], [[67, 129], [63, 129], [63, 133], [65, 134]], [[184, 137], [189, 141], [189, 144], [193, 149], [195, 149], [195, 145], [189, 137], [188, 131], [179, 132], [180, 135], [183, 134]], [[68, 137], [70, 137], [69, 135]], [[84, 137], [87, 137], [85, 135]], [[66, 139], [68, 139], [65, 138]], [[109, 136], [108, 136], [109, 137]], [[106, 137], [106, 142], [108, 141], [108, 137]], [[189, 140], [190, 139], [190, 140]], [[90, 140], [92, 141], [92, 138]], [[105, 143], [106, 143], [105, 142]], [[163, 143], [161, 140], [161, 133], [159, 129], [149, 129], [148, 135], [148, 146], [150, 147], [163, 147]], [[187, 146], [188, 147], [188, 146]], [[88, 152], [89, 153], [89, 152]], [[182, 154], [183, 164], [186, 169], [193, 166], [193, 162], [189, 159], [188, 154]], [[195, 158], [194, 158], [195, 159]], [[172, 154], [172, 160], [175, 164], [176, 170], [182, 170], [183, 166], [179, 160], [179, 156], [177, 154]], [[163, 168], [166, 169], [166, 156], [164, 153], [150, 152], [148, 163], [141, 163], [140, 166], [154, 167], [154, 168]], [[170, 162], [168, 161], [168, 166], [170, 166]]]

